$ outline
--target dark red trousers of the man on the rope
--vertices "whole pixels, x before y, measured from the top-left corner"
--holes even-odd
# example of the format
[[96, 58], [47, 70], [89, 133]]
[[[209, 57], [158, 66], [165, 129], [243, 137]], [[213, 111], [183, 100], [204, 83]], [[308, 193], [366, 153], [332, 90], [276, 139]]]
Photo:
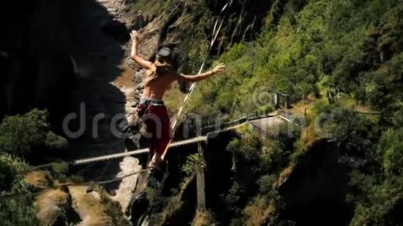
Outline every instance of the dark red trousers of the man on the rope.
[[172, 137], [167, 107], [164, 105], [148, 105], [143, 119], [147, 126], [147, 134], [144, 135], [150, 141], [150, 151], [163, 155]]

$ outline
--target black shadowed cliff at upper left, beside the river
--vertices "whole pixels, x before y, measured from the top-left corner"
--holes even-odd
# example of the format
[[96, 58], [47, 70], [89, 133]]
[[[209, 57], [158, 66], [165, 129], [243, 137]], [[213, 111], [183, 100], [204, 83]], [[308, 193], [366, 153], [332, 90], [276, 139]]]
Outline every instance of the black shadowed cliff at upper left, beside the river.
[[57, 118], [74, 81], [78, 1], [0, 1], [0, 115], [47, 107]]

